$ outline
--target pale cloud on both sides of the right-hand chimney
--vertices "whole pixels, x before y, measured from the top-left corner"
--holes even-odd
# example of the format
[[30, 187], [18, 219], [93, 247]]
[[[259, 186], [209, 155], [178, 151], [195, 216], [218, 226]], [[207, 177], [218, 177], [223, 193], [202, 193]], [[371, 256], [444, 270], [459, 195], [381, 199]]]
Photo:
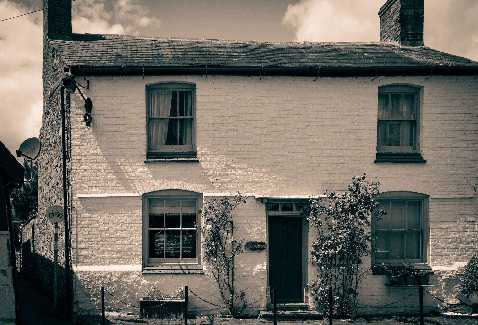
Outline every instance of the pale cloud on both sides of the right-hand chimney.
[[[302, 0], [287, 7], [282, 24], [294, 30], [294, 41], [379, 41], [377, 12], [384, 3], [385, 0]], [[478, 61], [477, 16], [476, 0], [425, 0], [425, 45]]]

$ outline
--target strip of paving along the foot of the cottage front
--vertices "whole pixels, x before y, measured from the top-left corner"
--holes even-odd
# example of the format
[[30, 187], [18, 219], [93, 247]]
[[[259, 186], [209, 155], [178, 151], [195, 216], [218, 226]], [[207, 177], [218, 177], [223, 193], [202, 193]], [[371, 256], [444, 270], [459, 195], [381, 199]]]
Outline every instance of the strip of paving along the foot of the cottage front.
[[[83, 316], [87, 325], [100, 325], [100, 316]], [[328, 319], [316, 321], [280, 321], [279, 325], [329, 325]], [[181, 319], [141, 319], [126, 314], [109, 314], [106, 317], [106, 325], [183, 325]], [[377, 316], [355, 319], [337, 319], [334, 325], [415, 325], [420, 324], [418, 316]], [[218, 317], [197, 317], [190, 319], [188, 325], [272, 325], [271, 321], [259, 319], [227, 319]], [[478, 325], [478, 319], [446, 319], [439, 316], [428, 316], [424, 318], [424, 325]]]

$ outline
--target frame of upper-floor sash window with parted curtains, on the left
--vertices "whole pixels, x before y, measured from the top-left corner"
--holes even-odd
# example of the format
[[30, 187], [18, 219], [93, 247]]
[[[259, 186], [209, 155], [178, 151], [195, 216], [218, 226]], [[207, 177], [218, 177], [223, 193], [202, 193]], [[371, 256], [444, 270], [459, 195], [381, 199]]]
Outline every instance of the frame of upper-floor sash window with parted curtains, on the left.
[[[149, 109], [149, 97], [150, 91], [154, 90], [168, 90], [168, 91], [191, 91], [191, 104], [193, 110], [193, 139], [191, 145], [161, 145], [161, 146], [152, 146], [150, 144], [150, 109]], [[179, 102], [179, 101], [178, 101]], [[165, 117], [164, 119], [191, 119], [190, 117], [176, 117], [169, 118]], [[186, 81], [163, 81], [146, 85], [146, 146], [148, 154], [168, 154], [168, 153], [185, 153], [185, 154], [196, 154], [196, 84], [193, 82]]]

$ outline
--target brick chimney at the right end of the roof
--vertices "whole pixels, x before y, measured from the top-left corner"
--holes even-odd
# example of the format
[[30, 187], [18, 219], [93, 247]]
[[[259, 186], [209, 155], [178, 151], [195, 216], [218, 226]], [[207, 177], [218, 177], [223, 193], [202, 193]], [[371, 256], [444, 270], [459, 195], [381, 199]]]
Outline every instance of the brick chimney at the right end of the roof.
[[380, 8], [380, 42], [423, 46], [424, 0], [387, 0]]

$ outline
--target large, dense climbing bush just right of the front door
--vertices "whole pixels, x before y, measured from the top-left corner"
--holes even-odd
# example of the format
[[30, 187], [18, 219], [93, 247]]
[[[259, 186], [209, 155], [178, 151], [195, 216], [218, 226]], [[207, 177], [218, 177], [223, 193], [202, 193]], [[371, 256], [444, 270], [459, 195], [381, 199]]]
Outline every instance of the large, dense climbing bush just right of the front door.
[[[336, 318], [355, 316], [357, 289], [365, 275], [362, 258], [375, 251], [370, 231], [371, 218], [381, 220], [386, 214], [376, 200], [379, 182], [369, 183], [353, 176], [348, 190], [327, 192], [325, 198], [310, 200], [309, 221], [318, 231], [312, 242], [309, 262], [318, 267], [317, 280], [309, 283], [310, 294], [325, 314]], [[329, 287], [333, 292], [333, 309], [328, 310]]]

